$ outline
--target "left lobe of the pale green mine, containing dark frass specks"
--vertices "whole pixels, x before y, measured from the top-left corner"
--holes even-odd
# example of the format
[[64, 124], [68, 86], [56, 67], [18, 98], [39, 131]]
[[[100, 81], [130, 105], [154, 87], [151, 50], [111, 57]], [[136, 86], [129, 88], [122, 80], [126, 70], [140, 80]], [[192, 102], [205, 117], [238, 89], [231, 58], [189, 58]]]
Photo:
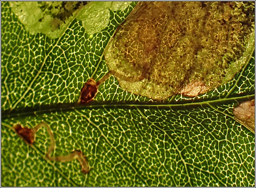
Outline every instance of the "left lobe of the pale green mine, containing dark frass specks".
[[44, 33], [58, 38], [68, 25], [87, 6], [81, 1], [9, 2], [12, 12], [30, 34]]

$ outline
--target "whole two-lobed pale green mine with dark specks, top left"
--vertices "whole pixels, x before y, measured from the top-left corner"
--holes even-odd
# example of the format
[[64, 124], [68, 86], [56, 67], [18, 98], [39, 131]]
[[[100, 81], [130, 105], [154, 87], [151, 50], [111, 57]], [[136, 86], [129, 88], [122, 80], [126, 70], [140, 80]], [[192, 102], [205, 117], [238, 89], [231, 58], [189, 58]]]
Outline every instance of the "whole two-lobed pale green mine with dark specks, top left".
[[[44, 33], [50, 38], [60, 37], [74, 18], [81, 20], [87, 34], [107, 27], [109, 8], [122, 10], [131, 2], [89, 1], [12, 1], [10, 7], [31, 34]], [[31, 14], [31, 9], [33, 12]]]

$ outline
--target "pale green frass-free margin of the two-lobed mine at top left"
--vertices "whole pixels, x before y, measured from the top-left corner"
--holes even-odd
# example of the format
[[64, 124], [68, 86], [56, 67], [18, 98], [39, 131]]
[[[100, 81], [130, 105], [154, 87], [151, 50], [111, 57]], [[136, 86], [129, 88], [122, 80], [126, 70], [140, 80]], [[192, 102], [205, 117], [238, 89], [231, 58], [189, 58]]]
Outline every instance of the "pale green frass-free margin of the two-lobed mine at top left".
[[[60, 29], [56, 29], [55, 31], [52, 31], [50, 28], [52, 17], [50, 15], [44, 16], [36, 1], [12, 1], [9, 3], [12, 12], [17, 15], [20, 22], [30, 34], [44, 33], [49, 38], [58, 38], [67, 29], [74, 17], [78, 20], [82, 20], [83, 27], [85, 28], [87, 34], [90, 35], [93, 33], [98, 33], [108, 25], [109, 9], [122, 10], [128, 7], [131, 2], [89, 2], [84, 8], [75, 11], [73, 16], [70, 16], [67, 20], [65, 20], [66, 24], [61, 24]], [[53, 3], [54, 6], [59, 4], [61, 4], [61, 1]], [[44, 18], [42, 19], [42, 22], [39, 22], [39, 19], [41, 19], [43, 16]]]

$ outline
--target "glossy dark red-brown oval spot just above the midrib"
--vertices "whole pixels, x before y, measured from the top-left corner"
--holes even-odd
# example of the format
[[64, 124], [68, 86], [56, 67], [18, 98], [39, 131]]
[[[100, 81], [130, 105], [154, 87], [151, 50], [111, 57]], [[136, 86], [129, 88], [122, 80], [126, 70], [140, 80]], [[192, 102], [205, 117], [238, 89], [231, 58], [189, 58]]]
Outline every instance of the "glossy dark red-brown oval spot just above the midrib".
[[81, 94], [78, 103], [88, 103], [92, 101], [97, 92], [97, 83], [95, 82], [95, 80], [90, 79], [88, 82], [85, 83], [85, 85], [81, 89]]

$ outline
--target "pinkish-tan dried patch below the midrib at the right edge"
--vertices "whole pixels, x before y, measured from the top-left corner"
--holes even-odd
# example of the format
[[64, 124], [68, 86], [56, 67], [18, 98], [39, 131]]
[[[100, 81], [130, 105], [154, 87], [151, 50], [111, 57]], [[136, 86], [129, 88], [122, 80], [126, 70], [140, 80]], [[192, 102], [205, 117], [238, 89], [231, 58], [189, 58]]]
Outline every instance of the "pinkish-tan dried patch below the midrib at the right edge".
[[234, 108], [235, 119], [244, 124], [253, 133], [255, 132], [255, 100], [242, 102]]

